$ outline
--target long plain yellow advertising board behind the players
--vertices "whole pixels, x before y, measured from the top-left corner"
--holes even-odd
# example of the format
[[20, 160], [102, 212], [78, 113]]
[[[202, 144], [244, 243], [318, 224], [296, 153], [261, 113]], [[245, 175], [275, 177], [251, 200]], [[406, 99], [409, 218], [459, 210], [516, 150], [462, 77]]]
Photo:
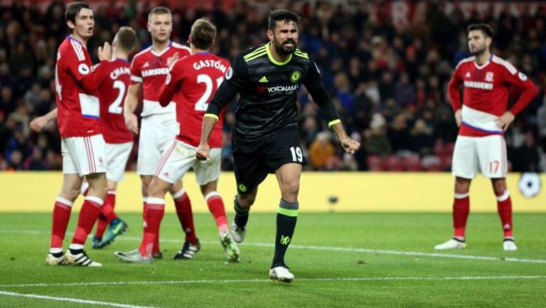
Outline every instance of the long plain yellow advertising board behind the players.
[[[508, 189], [513, 211], [546, 212], [546, 196], [541, 191], [535, 198], [525, 198], [518, 189], [519, 174], [508, 176]], [[542, 182], [545, 176], [540, 176]], [[50, 212], [60, 191], [60, 172], [0, 172], [0, 212]], [[142, 199], [139, 176], [133, 172], [117, 189], [116, 210], [140, 212]], [[196, 184], [193, 172], [184, 179], [193, 211], [208, 208]], [[300, 211], [312, 212], [450, 212], [453, 203], [454, 178], [449, 173], [378, 173], [378, 172], [304, 172], [299, 191]], [[235, 177], [232, 172], [220, 176], [218, 192], [225, 208], [232, 212]], [[274, 175], [259, 186], [252, 211], [274, 212], [280, 192]], [[491, 181], [478, 176], [471, 185], [471, 212], [496, 212], [496, 198]], [[75, 202], [80, 208], [82, 198]], [[166, 196], [166, 211], [174, 212], [171, 196]]]

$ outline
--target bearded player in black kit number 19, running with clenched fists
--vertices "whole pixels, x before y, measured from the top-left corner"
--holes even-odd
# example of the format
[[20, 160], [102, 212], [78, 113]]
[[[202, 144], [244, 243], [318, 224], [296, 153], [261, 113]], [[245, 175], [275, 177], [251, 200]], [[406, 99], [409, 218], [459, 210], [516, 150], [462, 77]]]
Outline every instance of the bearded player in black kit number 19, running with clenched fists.
[[296, 122], [296, 90], [305, 85], [319, 106], [328, 127], [338, 136], [346, 152], [353, 154], [360, 143], [346, 134], [331, 97], [321, 82], [316, 64], [296, 48], [299, 15], [287, 10], [269, 14], [269, 43], [242, 51], [225, 74], [225, 81], [210, 100], [201, 133], [198, 159], [209, 158], [208, 139], [220, 110], [240, 94], [232, 132], [233, 160], [237, 195], [232, 236], [237, 243], [245, 239], [250, 206], [258, 185], [267, 174], [277, 176], [281, 200], [277, 211], [275, 254], [269, 278], [291, 282], [294, 275], [284, 263], [298, 216], [301, 166], [307, 160], [299, 147]]

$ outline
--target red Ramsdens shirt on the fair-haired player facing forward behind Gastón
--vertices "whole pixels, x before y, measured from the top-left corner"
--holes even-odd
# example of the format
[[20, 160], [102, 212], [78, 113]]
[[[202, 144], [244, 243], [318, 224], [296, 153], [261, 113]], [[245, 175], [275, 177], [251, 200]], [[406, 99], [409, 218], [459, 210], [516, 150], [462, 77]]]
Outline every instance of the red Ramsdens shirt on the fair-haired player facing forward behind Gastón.
[[134, 56], [131, 63], [131, 84], [142, 84], [142, 117], [174, 112], [173, 105], [165, 108], [159, 105], [159, 89], [165, 84], [168, 74], [167, 61], [176, 53], [178, 58], [184, 58], [190, 55], [190, 48], [171, 42], [161, 53], [156, 53], [150, 46]]

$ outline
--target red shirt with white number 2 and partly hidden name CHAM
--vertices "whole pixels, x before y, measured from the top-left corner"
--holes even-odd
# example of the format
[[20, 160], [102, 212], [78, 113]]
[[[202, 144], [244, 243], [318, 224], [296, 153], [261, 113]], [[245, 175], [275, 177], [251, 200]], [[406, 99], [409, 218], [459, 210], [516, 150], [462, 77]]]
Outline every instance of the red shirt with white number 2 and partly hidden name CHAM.
[[123, 102], [130, 78], [129, 61], [116, 59], [99, 87], [102, 136], [110, 144], [133, 141], [133, 134], [125, 126], [123, 117]]

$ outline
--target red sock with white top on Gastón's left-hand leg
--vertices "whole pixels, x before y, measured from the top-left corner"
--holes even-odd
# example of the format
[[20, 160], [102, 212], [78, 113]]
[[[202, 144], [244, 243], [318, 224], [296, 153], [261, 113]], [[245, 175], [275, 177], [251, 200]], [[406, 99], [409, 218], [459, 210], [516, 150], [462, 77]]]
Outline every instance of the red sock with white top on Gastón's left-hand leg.
[[154, 241], [159, 234], [161, 219], [165, 214], [165, 200], [161, 198], [148, 198], [144, 206], [144, 235], [140, 244], [140, 255], [150, 258], [154, 249]]

